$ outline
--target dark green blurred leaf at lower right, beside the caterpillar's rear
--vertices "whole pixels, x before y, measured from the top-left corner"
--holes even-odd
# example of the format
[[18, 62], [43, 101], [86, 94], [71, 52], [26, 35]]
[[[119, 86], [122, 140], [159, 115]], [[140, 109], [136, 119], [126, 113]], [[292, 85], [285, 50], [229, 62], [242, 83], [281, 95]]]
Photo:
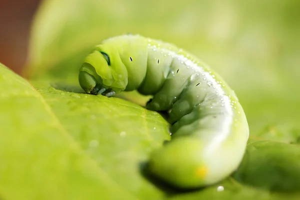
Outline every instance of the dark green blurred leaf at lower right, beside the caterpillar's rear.
[[275, 141], [249, 143], [233, 177], [269, 191], [298, 192], [300, 146]]

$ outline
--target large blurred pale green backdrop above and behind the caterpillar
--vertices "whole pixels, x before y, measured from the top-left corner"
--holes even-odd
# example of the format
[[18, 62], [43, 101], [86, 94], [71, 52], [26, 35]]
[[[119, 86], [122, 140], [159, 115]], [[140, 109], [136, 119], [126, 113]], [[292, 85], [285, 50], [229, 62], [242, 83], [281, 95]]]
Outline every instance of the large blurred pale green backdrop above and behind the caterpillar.
[[[45, 0], [32, 26], [28, 77], [75, 80], [89, 49], [127, 32], [172, 42], [235, 90], [250, 132], [300, 128], [300, 1]], [[75, 80], [76, 81], [76, 80]]]

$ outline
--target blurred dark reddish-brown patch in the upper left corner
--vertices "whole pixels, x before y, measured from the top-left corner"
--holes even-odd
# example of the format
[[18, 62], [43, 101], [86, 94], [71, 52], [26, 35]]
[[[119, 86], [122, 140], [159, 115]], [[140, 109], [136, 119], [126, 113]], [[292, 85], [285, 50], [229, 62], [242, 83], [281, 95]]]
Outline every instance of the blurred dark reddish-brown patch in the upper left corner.
[[0, 62], [20, 73], [27, 55], [30, 25], [40, 0], [0, 0]]

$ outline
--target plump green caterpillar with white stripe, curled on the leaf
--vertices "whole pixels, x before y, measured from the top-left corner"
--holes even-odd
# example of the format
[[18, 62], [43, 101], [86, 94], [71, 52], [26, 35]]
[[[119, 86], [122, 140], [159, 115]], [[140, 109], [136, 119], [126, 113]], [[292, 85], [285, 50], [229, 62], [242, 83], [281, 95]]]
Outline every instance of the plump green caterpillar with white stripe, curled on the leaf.
[[249, 128], [232, 89], [210, 67], [173, 44], [141, 35], [104, 39], [79, 69], [86, 93], [137, 90], [146, 108], [170, 110], [171, 140], [149, 155], [148, 171], [178, 188], [229, 176], [245, 152]]

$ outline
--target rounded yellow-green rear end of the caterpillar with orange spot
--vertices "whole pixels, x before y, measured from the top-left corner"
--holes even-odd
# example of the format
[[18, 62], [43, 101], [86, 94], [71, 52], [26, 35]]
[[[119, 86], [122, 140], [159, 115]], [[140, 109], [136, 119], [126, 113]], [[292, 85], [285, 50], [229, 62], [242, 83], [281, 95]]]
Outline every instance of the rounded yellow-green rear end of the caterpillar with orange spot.
[[[179, 189], [197, 189], [228, 177], [239, 165], [243, 150], [239, 145], [219, 145], [197, 137], [176, 137], [154, 151], [148, 171], [158, 179]], [[233, 156], [234, 155], [234, 156]]]

